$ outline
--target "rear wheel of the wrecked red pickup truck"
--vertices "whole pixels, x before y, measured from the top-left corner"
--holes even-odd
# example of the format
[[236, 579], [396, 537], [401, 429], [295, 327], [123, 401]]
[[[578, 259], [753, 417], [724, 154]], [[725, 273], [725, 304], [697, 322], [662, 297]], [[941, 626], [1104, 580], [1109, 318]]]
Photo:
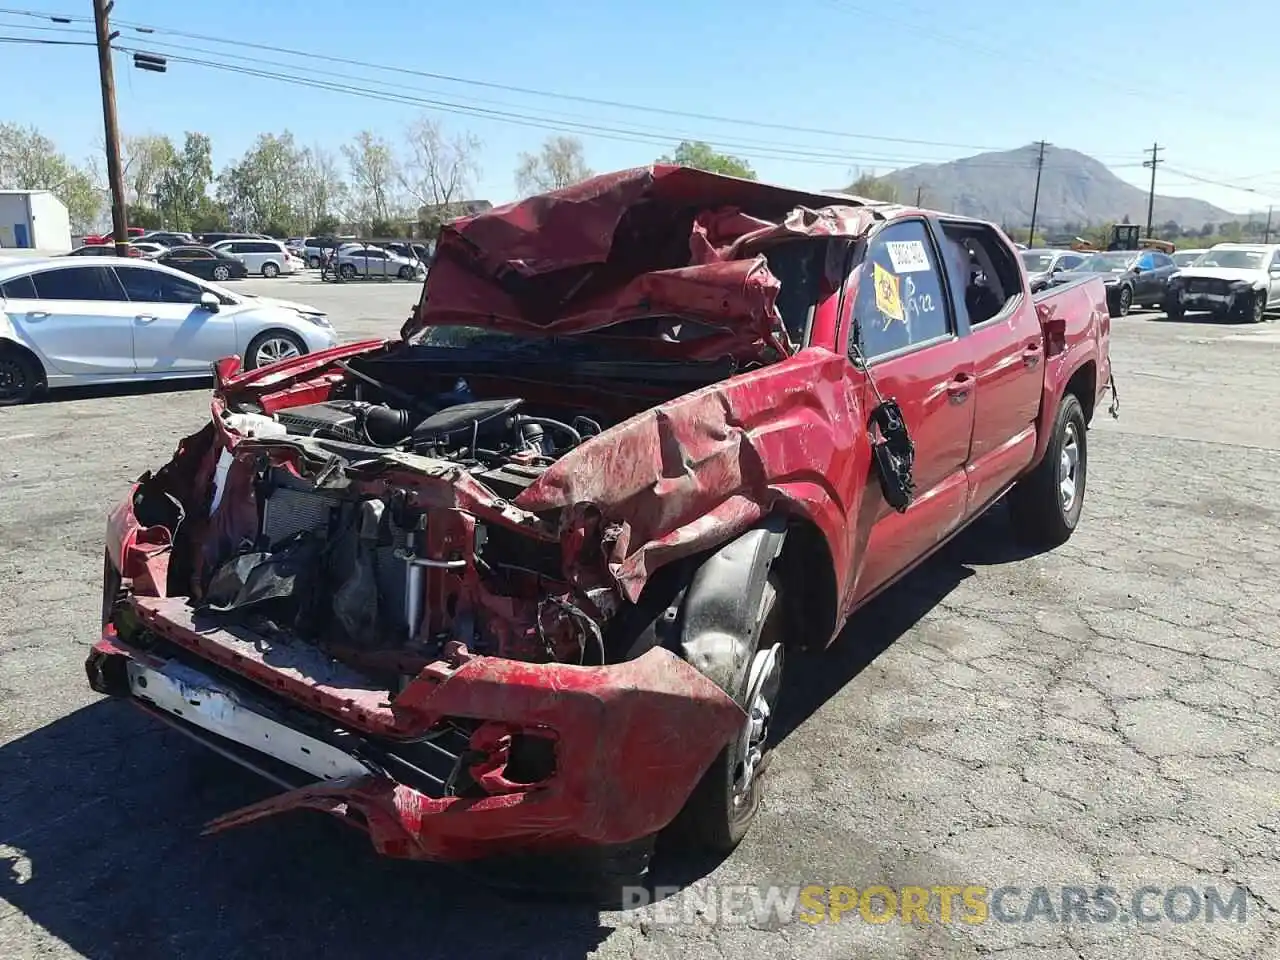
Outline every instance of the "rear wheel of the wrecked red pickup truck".
[[1014, 532], [1023, 543], [1052, 549], [1071, 538], [1084, 508], [1088, 467], [1084, 408], [1068, 393], [1059, 404], [1043, 460], [1009, 492]]

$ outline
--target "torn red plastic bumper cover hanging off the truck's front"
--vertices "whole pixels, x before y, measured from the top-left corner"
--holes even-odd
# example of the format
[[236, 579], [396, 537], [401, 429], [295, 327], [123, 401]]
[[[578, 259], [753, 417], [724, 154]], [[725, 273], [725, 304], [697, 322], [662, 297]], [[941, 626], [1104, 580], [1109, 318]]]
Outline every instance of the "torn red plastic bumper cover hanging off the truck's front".
[[212, 820], [216, 832], [297, 809], [358, 812], [379, 852], [467, 860], [625, 844], [669, 823], [745, 716], [712, 681], [654, 648], [609, 667], [483, 657], [397, 708], [556, 732], [556, 773], [527, 792], [430, 797], [384, 777], [289, 791]]

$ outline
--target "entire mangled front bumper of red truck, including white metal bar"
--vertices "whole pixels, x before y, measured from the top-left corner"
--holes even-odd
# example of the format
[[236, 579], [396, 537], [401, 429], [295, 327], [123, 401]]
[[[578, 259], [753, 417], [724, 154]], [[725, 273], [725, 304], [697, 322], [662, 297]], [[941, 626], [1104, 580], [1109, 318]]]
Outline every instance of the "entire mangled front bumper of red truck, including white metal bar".
[[[394, 701], [375, 703], [371, 691], [308, 676], [292, 648], [255, 655], [225, 631], [166, 622], [180, 602], [131, 603], [159, 639], [142, 649], [108, 626], [86, 663], [91, 686], [287, 788], [206, 833], [312, 809], [407, 859], [628, 844], [675, 818], [745, 722], [719, 687], [660, 648], [607, 667], [475, 657], [431, 680], [429, 668]], [[311, 695], [294, 695], [298, 685]], [[333, 708], [343, 694], [346, 722]], [[549, 750], [530, 763], [532, 740]], [[460, 781], [466, 795], [452, 792]]]

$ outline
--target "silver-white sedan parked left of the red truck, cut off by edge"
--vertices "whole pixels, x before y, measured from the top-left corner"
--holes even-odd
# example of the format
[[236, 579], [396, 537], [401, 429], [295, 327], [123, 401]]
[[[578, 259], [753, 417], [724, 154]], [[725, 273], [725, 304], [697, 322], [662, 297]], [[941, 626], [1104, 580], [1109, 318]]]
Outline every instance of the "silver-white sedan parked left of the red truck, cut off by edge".
[[0, 406], [44, 388], [207, 376], [338, 343], [324, 312], [232, 293], [146, 260], [0, 260]]

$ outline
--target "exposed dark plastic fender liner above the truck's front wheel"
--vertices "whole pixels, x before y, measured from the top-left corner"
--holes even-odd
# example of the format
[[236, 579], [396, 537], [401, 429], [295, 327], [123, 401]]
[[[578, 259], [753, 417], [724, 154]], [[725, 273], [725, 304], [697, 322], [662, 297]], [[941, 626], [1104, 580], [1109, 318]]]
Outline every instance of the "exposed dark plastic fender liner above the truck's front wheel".
[[786, 517], [767, 517], [703, 561], [685, 593], [681, 653], [735, 699], [755, 654], [760, 602], [786, 531]]

